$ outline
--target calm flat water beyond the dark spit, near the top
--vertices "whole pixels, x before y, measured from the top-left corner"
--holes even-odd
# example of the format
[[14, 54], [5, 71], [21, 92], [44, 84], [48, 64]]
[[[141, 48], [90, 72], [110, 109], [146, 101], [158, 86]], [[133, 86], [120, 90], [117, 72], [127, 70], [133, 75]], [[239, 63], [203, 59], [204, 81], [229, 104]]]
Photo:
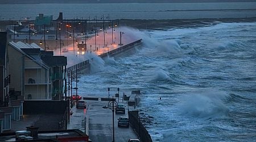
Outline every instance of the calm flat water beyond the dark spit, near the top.
[[195, 18], [246, 18], [255, 17], [256, 2], [229, 3], [44, 3], [0, 5], [1, 20], [36, 18], [43, 13], [57, 19], [63, 12], [64, 19], [195, 19]]

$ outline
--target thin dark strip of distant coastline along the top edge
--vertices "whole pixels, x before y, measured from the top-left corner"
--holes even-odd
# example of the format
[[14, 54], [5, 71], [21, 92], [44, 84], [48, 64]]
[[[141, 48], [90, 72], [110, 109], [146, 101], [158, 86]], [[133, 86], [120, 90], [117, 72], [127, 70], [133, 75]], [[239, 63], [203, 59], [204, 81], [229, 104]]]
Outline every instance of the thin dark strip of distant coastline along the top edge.
[[13, 0], [0, 1], [0, 5], [8, 4], [40, 4], [40, 3], [205, 3], [205, 2], [256, 2], [256, 0]]

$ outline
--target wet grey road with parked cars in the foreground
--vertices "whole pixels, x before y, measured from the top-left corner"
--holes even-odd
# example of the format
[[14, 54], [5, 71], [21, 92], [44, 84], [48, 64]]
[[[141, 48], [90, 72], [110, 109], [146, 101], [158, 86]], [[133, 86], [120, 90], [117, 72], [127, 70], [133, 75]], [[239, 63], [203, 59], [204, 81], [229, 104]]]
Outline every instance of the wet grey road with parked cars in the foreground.
[[[86, 101], [87, 108], [73, 107], [73, 115], [71, 115], [68, 129], [79, 129], [86, 132], [87, 119], [88, 135], [92, 141], [113, 141], [113, 123], [112, 123], [112, 110], [109, 108], [102, 108], [108, 106], [108, 101]], [[114, 112], [114, 139], [115, 141], [128, 141], [135, 139], [138, 136], [133, 131], [133, 128], [118, 127], [117, 122], [119, 116], [128, 116], [127, 103], [125, 114], [115, 114]]]

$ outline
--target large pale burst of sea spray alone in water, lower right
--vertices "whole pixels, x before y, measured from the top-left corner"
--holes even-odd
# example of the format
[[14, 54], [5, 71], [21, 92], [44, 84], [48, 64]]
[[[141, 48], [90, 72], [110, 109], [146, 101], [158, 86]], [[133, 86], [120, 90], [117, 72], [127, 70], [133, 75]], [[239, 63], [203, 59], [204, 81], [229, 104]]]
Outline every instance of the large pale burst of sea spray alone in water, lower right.
[[190, 94], [184, 96], [181, 103], [181, 114], [197, 118], [221, 118], [228, 115], [229, 109], [225, 101], [229, 95], [224, 91], [210, 89], [203, 94]]

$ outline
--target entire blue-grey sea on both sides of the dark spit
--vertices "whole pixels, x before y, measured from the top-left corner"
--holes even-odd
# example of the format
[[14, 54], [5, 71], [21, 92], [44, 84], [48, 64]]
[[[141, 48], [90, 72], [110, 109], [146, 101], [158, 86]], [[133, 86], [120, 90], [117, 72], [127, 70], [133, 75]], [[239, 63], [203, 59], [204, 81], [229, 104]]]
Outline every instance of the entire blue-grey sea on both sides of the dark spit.
[[[40, 12], [55, 18], [64, 12], [67, 19], [102, 14], [112, 19], [256, 16], [255, 2], [8, 6], [0, 6], [1, 18], [9, 19], [5, 12], [13, 14], [13, 19], [33, 19], [32, 14]], [[28, 7], [30, 11], [25, 10]], [[136, 109], [153, 141], [255, 141], [255, 21], [202, 19], [200, 25], [150, 30], [122, 27], [142, 38], [143, 44], [105, 60], [95, 57], [90, 74], [80, 75], [79, 94], [107, 97], [108, 87], [112, 95], [118, 87], [127, 95], [141, 90]]]

